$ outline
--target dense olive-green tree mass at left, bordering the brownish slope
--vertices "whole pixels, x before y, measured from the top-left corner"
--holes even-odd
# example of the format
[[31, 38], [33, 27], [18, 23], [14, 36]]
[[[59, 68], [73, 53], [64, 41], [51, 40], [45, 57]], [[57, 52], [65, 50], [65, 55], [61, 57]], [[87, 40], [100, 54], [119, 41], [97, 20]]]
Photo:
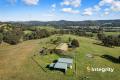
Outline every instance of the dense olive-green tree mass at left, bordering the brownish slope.
[[25, 40], [41, 39], [52, 34], [52, 32], [45, 29], [34, 29], [29, 34], [25, 34], [24, 30], [27, 29], [12, 25], [0, 27], [0, 43], [6, 42], [15, 45]]

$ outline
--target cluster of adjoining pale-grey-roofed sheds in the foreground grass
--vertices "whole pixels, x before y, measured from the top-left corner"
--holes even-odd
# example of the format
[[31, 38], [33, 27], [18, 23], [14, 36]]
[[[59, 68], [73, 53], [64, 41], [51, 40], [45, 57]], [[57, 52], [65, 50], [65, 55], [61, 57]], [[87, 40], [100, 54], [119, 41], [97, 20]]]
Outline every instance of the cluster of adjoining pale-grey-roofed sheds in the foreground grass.
[[59, 58], [56, 63], [51, 63], [49, 65], [50, 68], [53, 69], [60, 69], [67, 71], [67, 68], [72, 69], [73, 59], [70, 58]]

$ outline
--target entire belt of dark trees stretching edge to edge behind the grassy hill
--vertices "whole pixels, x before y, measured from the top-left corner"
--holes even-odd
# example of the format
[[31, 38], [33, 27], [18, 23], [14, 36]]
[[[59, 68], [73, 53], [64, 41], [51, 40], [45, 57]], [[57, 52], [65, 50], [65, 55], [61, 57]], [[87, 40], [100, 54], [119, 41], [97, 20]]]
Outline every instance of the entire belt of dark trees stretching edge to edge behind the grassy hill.
[[[31, 33], [25, 34], [24, 31], [27, 30], [31, 31]], [[54, 34], [73, 34], [78, 36], [93, 37], [94, 33], [98, 33], [98, 39], [105, 46], [120, 46], [120, 35], [107, 36], [103, 33], [102, 28], [97, 30], [93, 29], [91, 32], [87, 32], [84, 29], [61, 29], [49, 31], [38, 27], [20, 27], [13, 26], [11, 24], [6, 24], [0, 27], [0, 43], [6, 42], [15, 45], [25, 40], [41, 39]]]

